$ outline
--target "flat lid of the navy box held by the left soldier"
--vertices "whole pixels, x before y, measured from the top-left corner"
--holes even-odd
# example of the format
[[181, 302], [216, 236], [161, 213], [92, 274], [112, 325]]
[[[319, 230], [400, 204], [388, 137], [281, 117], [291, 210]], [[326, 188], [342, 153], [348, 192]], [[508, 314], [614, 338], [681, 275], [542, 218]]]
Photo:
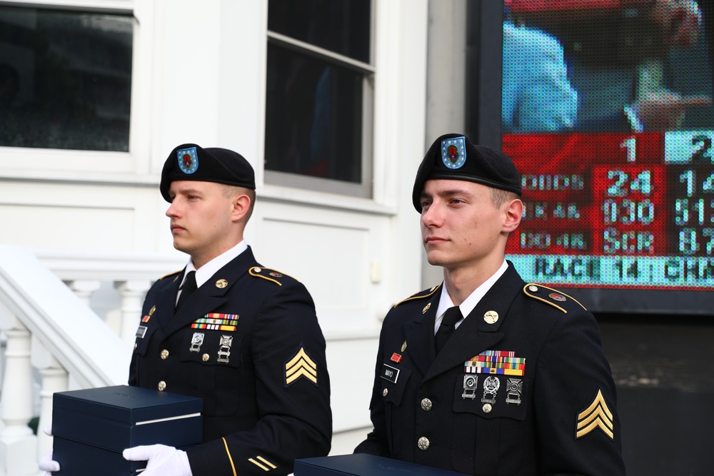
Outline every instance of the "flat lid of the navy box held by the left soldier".
[[89, 417], [129, 425], [181, 415], [200, 413], [203, 399], [148, 388], [115, 385], [57, 392], [52, 398], [53, 414], [81, 412]]

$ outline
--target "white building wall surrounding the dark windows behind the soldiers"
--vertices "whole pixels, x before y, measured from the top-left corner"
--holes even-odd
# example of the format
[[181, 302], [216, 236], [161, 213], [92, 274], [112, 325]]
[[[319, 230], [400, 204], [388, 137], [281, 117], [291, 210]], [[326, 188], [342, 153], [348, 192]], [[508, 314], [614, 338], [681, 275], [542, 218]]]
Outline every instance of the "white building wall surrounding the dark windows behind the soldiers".
[[381, 318], [421, 288], [411, 187], [427, 141], [428, 1], [374, 4], [370, 200], [263, 183], [266, 0], [36, 3], [134, 12], [131, 151], [0, 148], [0, 243], [181, 262], [158, 190], [166, 156], [186, 142], [233, 148], [256, 169], [248, 243], [261, 263], [306, 283], [316, 301], [335, 430], [368, 427]]

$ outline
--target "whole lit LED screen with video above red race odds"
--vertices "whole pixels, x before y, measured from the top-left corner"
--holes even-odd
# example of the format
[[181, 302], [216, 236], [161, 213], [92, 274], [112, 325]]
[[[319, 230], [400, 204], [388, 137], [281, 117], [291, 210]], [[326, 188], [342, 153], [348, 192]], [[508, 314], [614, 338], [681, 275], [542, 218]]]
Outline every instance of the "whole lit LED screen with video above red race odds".
[[711, 3], [506, 1], [501, 146], [525, 208], [506, 253], [525, 280], [714, 287]]

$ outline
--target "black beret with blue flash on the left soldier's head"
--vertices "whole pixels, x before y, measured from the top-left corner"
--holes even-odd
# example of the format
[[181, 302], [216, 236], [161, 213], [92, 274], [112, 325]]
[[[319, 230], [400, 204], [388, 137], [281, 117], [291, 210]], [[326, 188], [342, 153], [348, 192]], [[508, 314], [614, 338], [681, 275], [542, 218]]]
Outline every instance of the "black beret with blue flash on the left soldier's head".
[[168, 202], [169, 187], [176, 180], [225, 183], [256, 189], [253, 167], [241, 154], [227, 148], [201, 148], [195, 143], [185, 143], [174, 148], [161, 171], [161, 195]]

